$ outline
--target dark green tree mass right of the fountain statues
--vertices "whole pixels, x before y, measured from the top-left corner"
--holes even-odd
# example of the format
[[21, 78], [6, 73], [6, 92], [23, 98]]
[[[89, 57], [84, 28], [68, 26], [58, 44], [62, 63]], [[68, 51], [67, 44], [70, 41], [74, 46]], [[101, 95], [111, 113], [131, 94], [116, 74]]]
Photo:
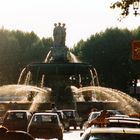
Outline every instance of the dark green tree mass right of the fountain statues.
[[73, 52], [96, 68], [102, 86], [127, 91], [133, 79], [140, 75], [140, 62], [131, 58], [132, 41], [140, 39], [139, 34], [139, 28], [106, 29], [79, 42]]

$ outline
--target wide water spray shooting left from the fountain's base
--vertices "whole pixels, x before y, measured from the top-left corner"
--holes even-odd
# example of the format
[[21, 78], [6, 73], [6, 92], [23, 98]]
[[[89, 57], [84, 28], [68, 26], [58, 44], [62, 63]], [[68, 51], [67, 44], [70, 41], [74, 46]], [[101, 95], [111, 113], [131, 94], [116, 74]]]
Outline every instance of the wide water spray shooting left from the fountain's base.
[[[0, 102], [31, 103], [30, 111], [38, 109], [39, 103], [50, 102], [50, 89], [30, 85], [5, 85], [0, 87]], [[31, 102], [29, 98], [32, 98]]]

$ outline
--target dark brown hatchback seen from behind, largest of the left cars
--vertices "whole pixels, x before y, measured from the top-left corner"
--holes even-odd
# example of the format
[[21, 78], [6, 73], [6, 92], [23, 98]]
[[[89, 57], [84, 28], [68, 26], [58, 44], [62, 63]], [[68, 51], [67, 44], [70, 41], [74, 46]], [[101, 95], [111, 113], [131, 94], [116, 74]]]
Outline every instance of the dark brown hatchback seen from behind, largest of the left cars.
[[35, 138], [63, 140], [63, 125], [57, 113], [33, 114], [27, 132]]

